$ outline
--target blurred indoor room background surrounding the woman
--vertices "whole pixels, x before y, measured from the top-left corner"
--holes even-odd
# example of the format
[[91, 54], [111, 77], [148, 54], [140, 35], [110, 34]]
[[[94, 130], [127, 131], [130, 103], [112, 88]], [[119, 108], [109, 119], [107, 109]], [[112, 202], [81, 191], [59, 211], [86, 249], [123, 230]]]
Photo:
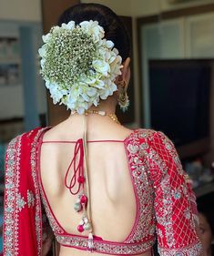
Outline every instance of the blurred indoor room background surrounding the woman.
[[54, 25], [48, 10], [78, 2], [107, 5], [127, 26], [131, 106], [127, 118], [118, 114], [120, 121], [165, 132], [197, 196], [214, 189], [214, 0], [0, 0], [1, 225], [8, 142], [66, 115], [47, 100], [39, 74], [37, 49]]

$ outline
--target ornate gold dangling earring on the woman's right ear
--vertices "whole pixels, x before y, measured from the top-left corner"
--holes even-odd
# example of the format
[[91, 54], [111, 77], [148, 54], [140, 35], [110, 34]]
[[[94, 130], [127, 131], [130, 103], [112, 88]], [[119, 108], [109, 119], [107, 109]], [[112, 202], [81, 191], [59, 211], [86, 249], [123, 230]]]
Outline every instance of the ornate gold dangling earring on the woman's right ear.
[[127, 111], [127, 108], [129, 106], [129, 99], [127, 96], [127, 82], [125, 80], [122, 80], [118, 83], [118, 105], [120, 109], [122, 109], [123, 112]]

